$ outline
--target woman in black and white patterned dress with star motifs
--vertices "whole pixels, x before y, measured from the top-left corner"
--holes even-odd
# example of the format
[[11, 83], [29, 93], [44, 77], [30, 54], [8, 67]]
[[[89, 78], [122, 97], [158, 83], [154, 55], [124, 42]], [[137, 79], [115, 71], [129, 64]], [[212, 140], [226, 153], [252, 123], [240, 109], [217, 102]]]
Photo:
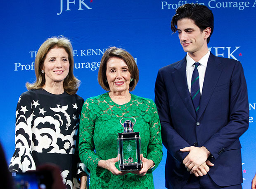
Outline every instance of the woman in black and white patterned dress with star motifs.
[[[35, 60], [36, 82], [19, 97], [15, 152], [9, 170], [26, 172], [45, 163], [61, 169], [67, 189], [86, 188], [86, 168], [77, 152], [83, 98], [76, 95], [72, 46], [65, 37], [47, 39]], [[80, 178], [78, 177], [80, 176]]]

